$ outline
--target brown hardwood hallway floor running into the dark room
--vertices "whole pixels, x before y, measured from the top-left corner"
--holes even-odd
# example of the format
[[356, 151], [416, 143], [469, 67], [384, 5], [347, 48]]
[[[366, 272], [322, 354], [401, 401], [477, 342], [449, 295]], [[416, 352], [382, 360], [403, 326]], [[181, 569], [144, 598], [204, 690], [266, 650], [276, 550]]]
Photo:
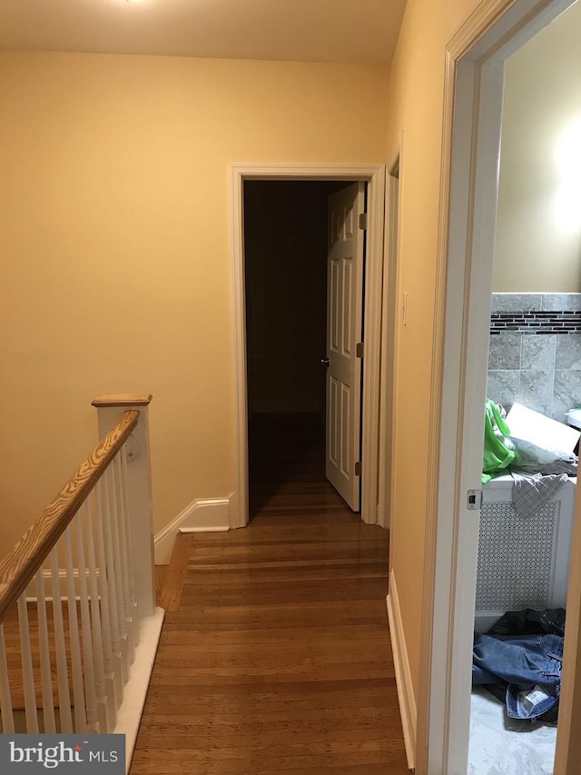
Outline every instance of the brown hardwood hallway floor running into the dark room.
[[387, 533], [324, 479], [317, 424], [275, 420], [253, 429], [250, 526], [183, 536], [159, 574], [168, 612], [132, 775], [408, 772]]

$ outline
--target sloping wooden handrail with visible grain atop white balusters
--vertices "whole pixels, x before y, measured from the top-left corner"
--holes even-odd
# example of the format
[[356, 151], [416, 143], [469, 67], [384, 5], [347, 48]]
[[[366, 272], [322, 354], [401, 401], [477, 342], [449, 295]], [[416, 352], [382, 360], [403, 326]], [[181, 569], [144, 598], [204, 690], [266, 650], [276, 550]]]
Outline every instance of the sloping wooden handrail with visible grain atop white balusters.
[[0, 561], [0, 622], [5, 611], [20, 597], [36, 571], [41, 568], [74, 514], [137, 425], [138, 419], [137, 410], [123, 412], [119, 422], [81, 463], [53, 502], [44, 509], [14, 549]]

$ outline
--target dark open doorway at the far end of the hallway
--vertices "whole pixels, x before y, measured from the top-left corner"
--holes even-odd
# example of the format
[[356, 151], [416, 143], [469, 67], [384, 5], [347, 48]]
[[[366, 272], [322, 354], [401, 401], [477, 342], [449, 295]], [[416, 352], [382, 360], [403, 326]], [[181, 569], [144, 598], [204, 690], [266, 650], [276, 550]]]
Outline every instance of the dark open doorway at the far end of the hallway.
[[[328, 214], [332, 195], [352, 185], [244, 184], [251, 518], [282, 492], [293, 492], [305, 508], [332, 499], [325, 481], [326, 429], [333, 413], [327, 395], [333, 290]], [[359, 438], [356, 446], [359, 456]], [[281, 508], [272, 502], [273, 514]]]

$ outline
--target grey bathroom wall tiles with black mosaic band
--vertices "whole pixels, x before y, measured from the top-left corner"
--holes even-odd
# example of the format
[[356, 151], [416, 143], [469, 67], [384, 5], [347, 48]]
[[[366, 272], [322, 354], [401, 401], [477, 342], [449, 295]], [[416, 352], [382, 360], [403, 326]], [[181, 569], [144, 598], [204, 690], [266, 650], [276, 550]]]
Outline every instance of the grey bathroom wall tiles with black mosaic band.
[[487, 397], [565, 422], [581, 406], [581, 293], [493, 293]]

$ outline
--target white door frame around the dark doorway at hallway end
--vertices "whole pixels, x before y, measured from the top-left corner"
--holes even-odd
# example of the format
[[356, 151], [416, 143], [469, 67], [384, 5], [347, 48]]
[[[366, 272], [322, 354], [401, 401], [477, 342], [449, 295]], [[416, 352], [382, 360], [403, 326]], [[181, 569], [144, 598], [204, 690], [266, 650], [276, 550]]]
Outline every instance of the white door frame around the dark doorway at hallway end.
[[234, 334], [236, 492], [231, 496], [230, 526], [249, 522], [248, 385], [244, 288], [244, 182], [247, 180], [364, 181], [367, 184], [367, 243], [364, 277], [363, 392], [361, 417], [361, 519], [378, 522], [379, 363], [383, 279], [384, 164], [231, 164], [230, 222]]

